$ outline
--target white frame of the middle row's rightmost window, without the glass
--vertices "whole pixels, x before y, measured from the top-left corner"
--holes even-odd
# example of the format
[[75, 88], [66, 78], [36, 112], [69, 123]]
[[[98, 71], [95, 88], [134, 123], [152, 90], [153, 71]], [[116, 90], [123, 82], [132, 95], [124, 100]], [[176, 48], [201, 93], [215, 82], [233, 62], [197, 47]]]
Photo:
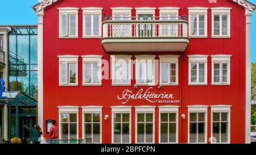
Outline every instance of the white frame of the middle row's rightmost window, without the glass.
[[[230, 58], [232, 55], [211, 55], [212, 57], [212, 85], [230, 85]], [[228, 64], [228, 82], [222, 82], [222, 64]], [[214, 64], [220, 64], [220, 82], [214, 82]]]

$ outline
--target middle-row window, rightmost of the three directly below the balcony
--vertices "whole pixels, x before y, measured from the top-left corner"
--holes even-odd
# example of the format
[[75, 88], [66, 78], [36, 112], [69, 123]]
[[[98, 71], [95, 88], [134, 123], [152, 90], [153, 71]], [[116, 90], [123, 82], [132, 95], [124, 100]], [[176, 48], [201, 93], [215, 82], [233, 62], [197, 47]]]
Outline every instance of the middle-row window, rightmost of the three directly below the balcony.
[[161, 55], [160, 58], [160, 84], [178, 85], [179, 56]]

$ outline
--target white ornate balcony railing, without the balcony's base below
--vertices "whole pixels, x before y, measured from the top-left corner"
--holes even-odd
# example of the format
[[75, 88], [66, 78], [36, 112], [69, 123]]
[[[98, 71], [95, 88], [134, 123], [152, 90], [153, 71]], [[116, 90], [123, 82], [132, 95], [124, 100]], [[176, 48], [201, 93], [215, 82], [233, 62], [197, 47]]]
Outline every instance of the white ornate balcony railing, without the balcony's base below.
[[106, 20], [105, 37], [188, 37], [185, 20]]

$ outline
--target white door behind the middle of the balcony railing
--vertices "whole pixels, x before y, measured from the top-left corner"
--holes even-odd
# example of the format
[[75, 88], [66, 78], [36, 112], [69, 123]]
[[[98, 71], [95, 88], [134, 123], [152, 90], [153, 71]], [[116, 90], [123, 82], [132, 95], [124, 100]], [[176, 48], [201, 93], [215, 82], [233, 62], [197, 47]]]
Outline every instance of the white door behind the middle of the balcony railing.
[[[153, 14], [138, 14], [138, 20], [153, 20]], [[139, 23], [138, 25], [138, 37], [154, 37], [154, 24], [151, 23]]]

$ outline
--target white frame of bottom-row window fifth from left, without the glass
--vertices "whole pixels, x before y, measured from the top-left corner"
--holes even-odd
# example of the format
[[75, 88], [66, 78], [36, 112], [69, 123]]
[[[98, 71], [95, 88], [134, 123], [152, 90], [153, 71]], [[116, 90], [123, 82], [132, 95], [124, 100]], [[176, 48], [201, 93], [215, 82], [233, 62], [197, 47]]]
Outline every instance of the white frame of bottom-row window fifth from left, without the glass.
[[[159, 143], [161, 143], [161, 114], [162, 113], [175, 113], [176, 114], [176, 142], [179, 142], [179, 107], [180, 106], [158, 106], [159, 107]], [[169, 122], [168, 122], [168, 128], [169, 128]], [[168, 129], [169, 132], [169, 129]], [[169, 135], [168, 135], [168, 141], [169, 141]], [[166, 144], [166, 143], [162, 143]]]

